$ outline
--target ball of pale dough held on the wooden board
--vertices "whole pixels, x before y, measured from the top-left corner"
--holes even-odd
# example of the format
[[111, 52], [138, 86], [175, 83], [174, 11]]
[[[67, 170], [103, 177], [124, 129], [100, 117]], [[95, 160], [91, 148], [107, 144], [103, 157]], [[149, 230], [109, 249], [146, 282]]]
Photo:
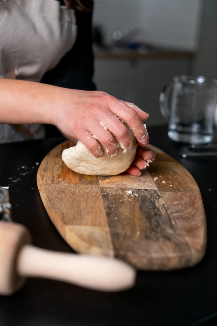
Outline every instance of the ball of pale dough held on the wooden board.
[[136, 155], [136, 138], [130, 129], [129, 133], [133, 141], [133, 148], [130, 151], [125, 149], [125, 153], [123, 153], [118, 143], [119, 153], [117, 155], [113, 157], [109, 156], [102, 147], [105, 155], [103, 157], [95, 157], [81, 141], [78, 141], [76, 146], [64, 149], [62, 152], [62, 160], [69, 169], [81, 174], [120, 174], [129, 168]]

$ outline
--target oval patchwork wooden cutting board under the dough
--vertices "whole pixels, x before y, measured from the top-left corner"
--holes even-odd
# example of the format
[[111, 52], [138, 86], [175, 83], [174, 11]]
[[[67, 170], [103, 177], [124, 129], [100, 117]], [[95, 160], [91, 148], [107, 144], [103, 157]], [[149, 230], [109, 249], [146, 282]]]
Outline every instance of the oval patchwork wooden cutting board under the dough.
[[83, 254], [117, 257], [142, 270], [197, 264], [206, 248], [200, 190], [176, 160], [149, 145], [156, 160], [140, 177], [88, 176], [61, 160], [65, 141], [41, 162], [37, 184], [65, 241]]

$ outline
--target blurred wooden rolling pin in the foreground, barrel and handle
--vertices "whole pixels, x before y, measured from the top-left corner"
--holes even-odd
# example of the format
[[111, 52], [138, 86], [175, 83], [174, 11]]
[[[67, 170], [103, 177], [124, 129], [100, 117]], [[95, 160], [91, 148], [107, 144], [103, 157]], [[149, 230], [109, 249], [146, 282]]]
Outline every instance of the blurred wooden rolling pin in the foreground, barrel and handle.
[[21, 288], [25, 277], [50, 278], [100, 291], [121, 291], [135, 283], [135, 270], [118, 259], [55, 252], [31, 245], [21, 224], [0, 221], [0, 294]]

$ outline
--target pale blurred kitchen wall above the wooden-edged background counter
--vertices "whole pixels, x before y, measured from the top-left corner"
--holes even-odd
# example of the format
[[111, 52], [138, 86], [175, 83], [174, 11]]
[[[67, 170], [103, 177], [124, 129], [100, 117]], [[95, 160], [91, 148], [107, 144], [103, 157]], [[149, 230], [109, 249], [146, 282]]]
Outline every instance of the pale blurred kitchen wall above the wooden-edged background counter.
[[101, 25], [105, 42], [120, 28], [146, 29], [156, 46], [195, 51], [202, 0], [95, 0], [93, 24]]

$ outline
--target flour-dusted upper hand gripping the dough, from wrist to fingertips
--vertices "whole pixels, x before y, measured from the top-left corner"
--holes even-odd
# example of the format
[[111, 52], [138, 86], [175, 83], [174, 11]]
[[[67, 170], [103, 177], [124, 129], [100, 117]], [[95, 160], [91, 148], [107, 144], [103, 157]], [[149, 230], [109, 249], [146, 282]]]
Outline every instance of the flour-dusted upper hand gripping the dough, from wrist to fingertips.
[[[64, 94], [65, 92], [65, 94]], [[116, 99], [104, 92], [62, 89], [64, 105], [53, 110], [52, 124], [70, 137], [82, 141], [96, 157], [104, 155], [99, 142], [110, 156], [115, 156], [119, 149], [130, 150], [133, 146], [126, 122], [137, 141], [148, 144], [147, 130], [142, 124], [149, 115], [132, 103]]]

